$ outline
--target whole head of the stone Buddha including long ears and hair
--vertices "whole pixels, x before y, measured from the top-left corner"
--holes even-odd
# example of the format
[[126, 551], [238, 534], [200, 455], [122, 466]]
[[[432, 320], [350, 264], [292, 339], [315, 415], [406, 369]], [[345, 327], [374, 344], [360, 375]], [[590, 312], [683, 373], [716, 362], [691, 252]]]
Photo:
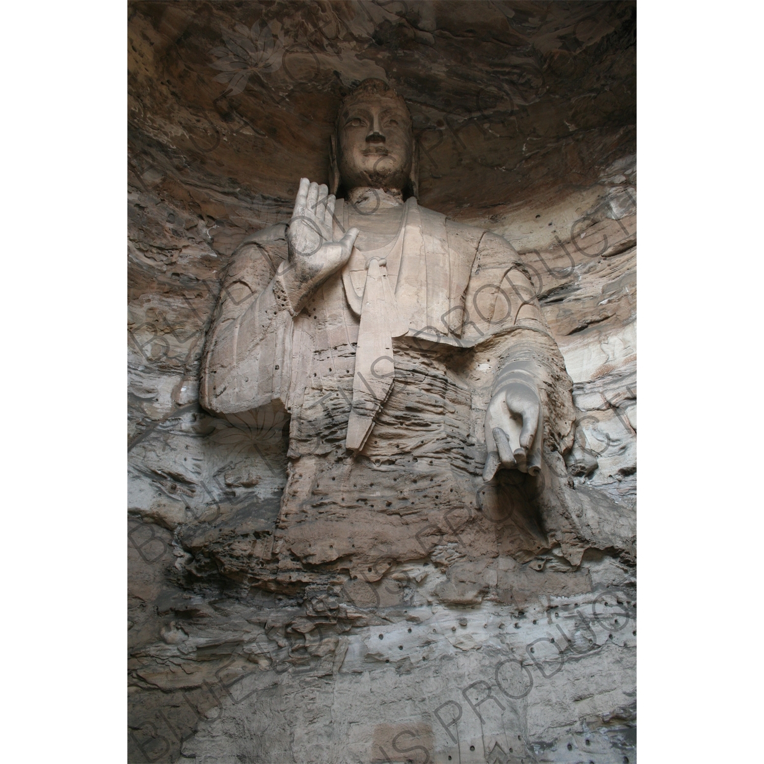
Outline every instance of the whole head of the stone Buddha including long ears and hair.
[[406, 102], [381, 79], [364, 81], [340, 105], [332, 138], [331, 193], [371, 187], [416, 196], [417, 167]]

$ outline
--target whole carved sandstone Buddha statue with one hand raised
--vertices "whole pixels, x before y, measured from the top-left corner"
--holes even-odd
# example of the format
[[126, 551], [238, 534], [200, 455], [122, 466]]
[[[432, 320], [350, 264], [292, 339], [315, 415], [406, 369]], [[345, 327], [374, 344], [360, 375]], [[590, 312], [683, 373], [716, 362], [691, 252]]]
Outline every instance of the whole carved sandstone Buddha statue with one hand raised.
[[571, 380], [520, 257], [419, 206], [410, 114], [380, 80], [342, 103], [330, 167], [235, 251], [202, 359], [206, 410], [291, 417], [280, 575], [564, 542]]

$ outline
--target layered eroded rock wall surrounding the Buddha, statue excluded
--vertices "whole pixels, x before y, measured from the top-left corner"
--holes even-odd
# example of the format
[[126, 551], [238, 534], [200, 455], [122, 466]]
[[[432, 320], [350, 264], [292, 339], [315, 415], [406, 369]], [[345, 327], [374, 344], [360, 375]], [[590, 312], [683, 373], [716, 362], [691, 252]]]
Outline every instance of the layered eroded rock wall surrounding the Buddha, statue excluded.
[[[130, 760], [635, 761], [635, 6], [129, 14]], [[422, 205], [533, 274], [578, 416], [562, 534], [479, 494], [452, 507], [425, 463], [400, 489], [419, 524], [397, 506], [362, 568], [354, 538], [380, 539], [350, 515], [286, 549], [283, 413], [199, 406], [231, 252], [289, 218], [300, 176], [327, 180], [337, 105], [369, 76], [410, 107]]]

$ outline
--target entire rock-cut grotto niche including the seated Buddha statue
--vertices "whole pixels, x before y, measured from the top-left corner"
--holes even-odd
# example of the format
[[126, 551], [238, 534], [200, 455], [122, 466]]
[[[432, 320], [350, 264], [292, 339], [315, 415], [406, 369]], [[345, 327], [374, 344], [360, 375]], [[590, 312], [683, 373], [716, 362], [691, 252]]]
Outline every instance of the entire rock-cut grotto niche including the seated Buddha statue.
[[129, 5], [131, 761], [636, 756], [635, 30]]

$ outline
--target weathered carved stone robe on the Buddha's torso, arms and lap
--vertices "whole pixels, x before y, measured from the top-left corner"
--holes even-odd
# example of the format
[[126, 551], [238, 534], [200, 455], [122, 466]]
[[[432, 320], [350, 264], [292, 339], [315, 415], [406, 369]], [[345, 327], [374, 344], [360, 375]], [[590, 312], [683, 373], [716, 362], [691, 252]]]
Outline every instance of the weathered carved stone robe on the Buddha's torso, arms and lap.
[[[347, 227], [338, 200], [335, 233]], [[286, 255], [286, 224], [237, 248], [207, 337], [199, 393], [219, 416], [263, 406], [291, 416], [274, 546], [283, 575], [299, 580], [307, 562], [375, 580], [393, 561], [501, 551], [527, 558], [548, 546], [534, 509], [539, 481], [517, 471], [500, 471], [489, 484], [481, 478], [487, 403], [516, 361], [533, 370], [545, 461], [553, 459], [558, 473], [574, 435], [571, 380], [510, 244], [412, 198], [390, 251], [354, 248], [304, 305], [292, 305], [284, 289]], [[377, 258], [371, 265], [370, 255]], [[387, 302], [376, 315], [389, 314], [391, 330], [382, 334], [392, 347], [369, 349], [359, 364], [368, 377], [369, 359], [382, 359], [368, 379], [385, 380], [387, 390], [376, 403], [366, 401], [374, 422], [354, 453], [345, 445], [359, 400], [362, 303], [380, 259]], [[361, 346], [370, 338], [362, 331]]]

